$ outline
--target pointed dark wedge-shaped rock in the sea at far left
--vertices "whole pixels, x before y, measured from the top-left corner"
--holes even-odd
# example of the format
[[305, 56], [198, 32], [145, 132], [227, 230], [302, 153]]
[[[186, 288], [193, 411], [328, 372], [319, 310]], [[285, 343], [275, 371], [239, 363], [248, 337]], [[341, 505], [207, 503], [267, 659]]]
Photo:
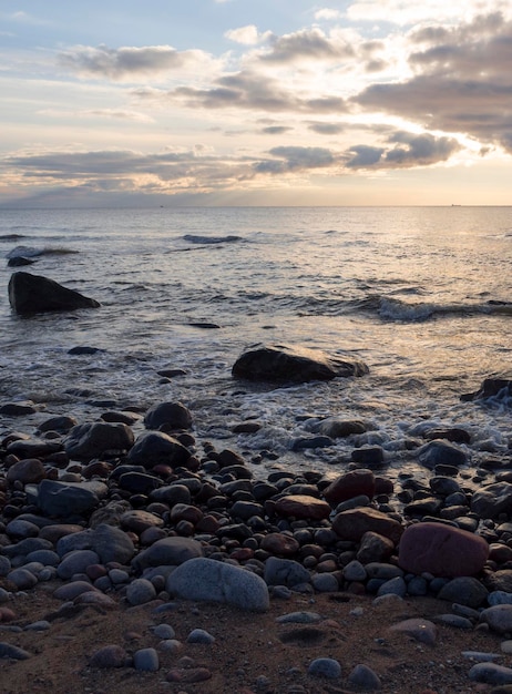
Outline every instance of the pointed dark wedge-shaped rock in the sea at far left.
[[49, 310], [74, 310], [75, 308], [98, 308], [95, 299], [79, 292], [68, 289], [53, 279], [14, 273], [9, 280], [9, 303], [17, 314], [30, 315]]

